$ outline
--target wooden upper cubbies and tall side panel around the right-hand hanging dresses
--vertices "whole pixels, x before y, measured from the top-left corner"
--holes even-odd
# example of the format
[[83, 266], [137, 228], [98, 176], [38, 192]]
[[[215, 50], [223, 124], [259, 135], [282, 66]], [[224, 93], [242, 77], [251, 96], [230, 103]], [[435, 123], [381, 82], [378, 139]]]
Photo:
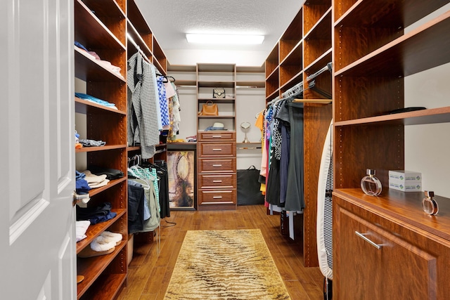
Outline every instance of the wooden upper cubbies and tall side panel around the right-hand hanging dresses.
[[[330, 70], [323, 72], [332, 61], [331, 12], [331, 0], [305, 1], [265, 62], [266, 102], [284, 98], [303, 84], [303, 93], [296, 98], [304, 102], [304, 266], [319, 265], [316, 207], [320, 150], [332, 119], [332, 75]], [[288, 218], [283, 220], [288, 222]], [[287, 223], [281, 226], [288, 228]]]

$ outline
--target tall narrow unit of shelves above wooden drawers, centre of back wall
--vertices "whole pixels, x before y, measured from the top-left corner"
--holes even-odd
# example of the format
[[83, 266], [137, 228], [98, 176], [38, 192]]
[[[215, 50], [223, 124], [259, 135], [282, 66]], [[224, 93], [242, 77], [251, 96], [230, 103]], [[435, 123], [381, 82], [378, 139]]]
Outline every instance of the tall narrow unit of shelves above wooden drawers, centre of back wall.
[[[198, 112], [208, 101], [218, 116], [198, 115], [197, 208], [236, 209], [236, 65], [197, 64]], [[225, 98], [213, 98], [214, 88], [225, 89]], [[224, 130], [210, 130], [214, 124]]]

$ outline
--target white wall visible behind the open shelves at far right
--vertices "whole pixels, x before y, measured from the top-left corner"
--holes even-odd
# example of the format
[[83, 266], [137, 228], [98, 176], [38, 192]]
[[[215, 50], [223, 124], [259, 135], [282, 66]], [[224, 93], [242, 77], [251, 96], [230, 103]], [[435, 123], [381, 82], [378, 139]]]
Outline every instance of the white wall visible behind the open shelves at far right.
[[[450, 9], [450, 4], [425, 18], [435, 18]], [[423, 22], [406, 28], [410, 32]], [[450, 105], [450, 64], [406, 77], [405, 107], [427, 108]], [[422, 173], [423, 190], [432, 190], [436, 195], [450, 197], [449, 176], [450, 124], [427, 124], [405, 126], [405, 169]]]

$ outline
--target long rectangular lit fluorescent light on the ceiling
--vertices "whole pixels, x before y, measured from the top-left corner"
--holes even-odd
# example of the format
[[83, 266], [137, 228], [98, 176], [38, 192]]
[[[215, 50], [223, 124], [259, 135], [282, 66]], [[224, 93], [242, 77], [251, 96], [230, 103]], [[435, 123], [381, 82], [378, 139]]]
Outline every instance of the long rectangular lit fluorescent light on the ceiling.
[[187, 33], [186, 39], [197, 44], [262, 44], [264, 35]]

